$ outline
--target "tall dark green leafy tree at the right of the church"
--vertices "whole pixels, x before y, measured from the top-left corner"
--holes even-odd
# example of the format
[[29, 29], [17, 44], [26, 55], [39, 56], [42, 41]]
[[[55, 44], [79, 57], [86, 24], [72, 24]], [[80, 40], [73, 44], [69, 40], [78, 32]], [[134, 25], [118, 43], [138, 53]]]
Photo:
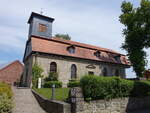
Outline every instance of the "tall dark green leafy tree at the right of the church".
[[137, 77], [142, 77], [147, 64], [144, 49], [150, 47], [150, 1], [141, 0], [137, 8], [124, 1], [121, 10], [120, 22], [125, 26], [122, 48], [127, 51]]

